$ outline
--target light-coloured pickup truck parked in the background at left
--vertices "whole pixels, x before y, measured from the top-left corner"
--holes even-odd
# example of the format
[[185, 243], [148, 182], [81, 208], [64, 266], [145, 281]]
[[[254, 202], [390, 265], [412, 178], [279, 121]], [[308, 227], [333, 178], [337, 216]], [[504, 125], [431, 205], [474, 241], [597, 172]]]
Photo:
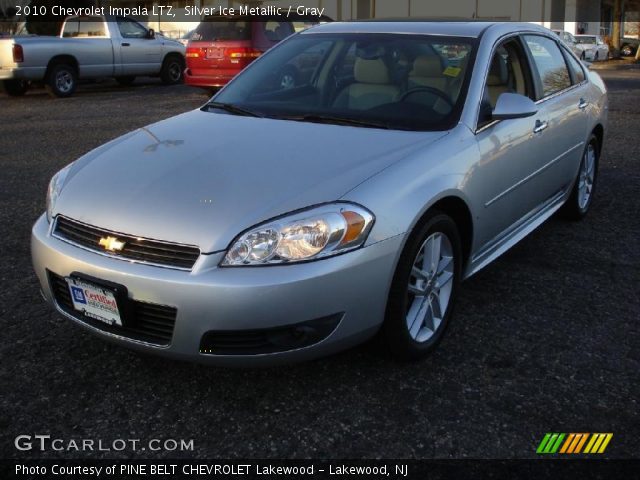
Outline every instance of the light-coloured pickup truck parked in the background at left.
[[0, 80], [9, 95], [24, 95], [31, 82], [68, 97], [78, 80], [114, 77], [128, 85], [136, 76], [182, 81], [185, 46], [155, 35], [126, 17], [69, 17], [58, 37], [0, 39]]

